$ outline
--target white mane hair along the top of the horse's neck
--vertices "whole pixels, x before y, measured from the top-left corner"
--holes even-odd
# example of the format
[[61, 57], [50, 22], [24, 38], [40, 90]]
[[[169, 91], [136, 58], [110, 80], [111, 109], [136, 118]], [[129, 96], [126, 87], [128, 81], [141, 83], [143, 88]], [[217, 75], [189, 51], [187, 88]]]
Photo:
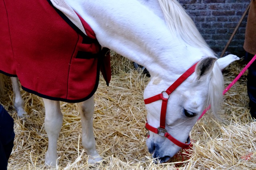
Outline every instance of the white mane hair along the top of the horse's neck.
[[194, 21], [176, 0], [158, 0], [166, 24], [172, 33], [183, 39], [187, 44], [198, 47], [206, 56], [215, 56], [196, 28]]

